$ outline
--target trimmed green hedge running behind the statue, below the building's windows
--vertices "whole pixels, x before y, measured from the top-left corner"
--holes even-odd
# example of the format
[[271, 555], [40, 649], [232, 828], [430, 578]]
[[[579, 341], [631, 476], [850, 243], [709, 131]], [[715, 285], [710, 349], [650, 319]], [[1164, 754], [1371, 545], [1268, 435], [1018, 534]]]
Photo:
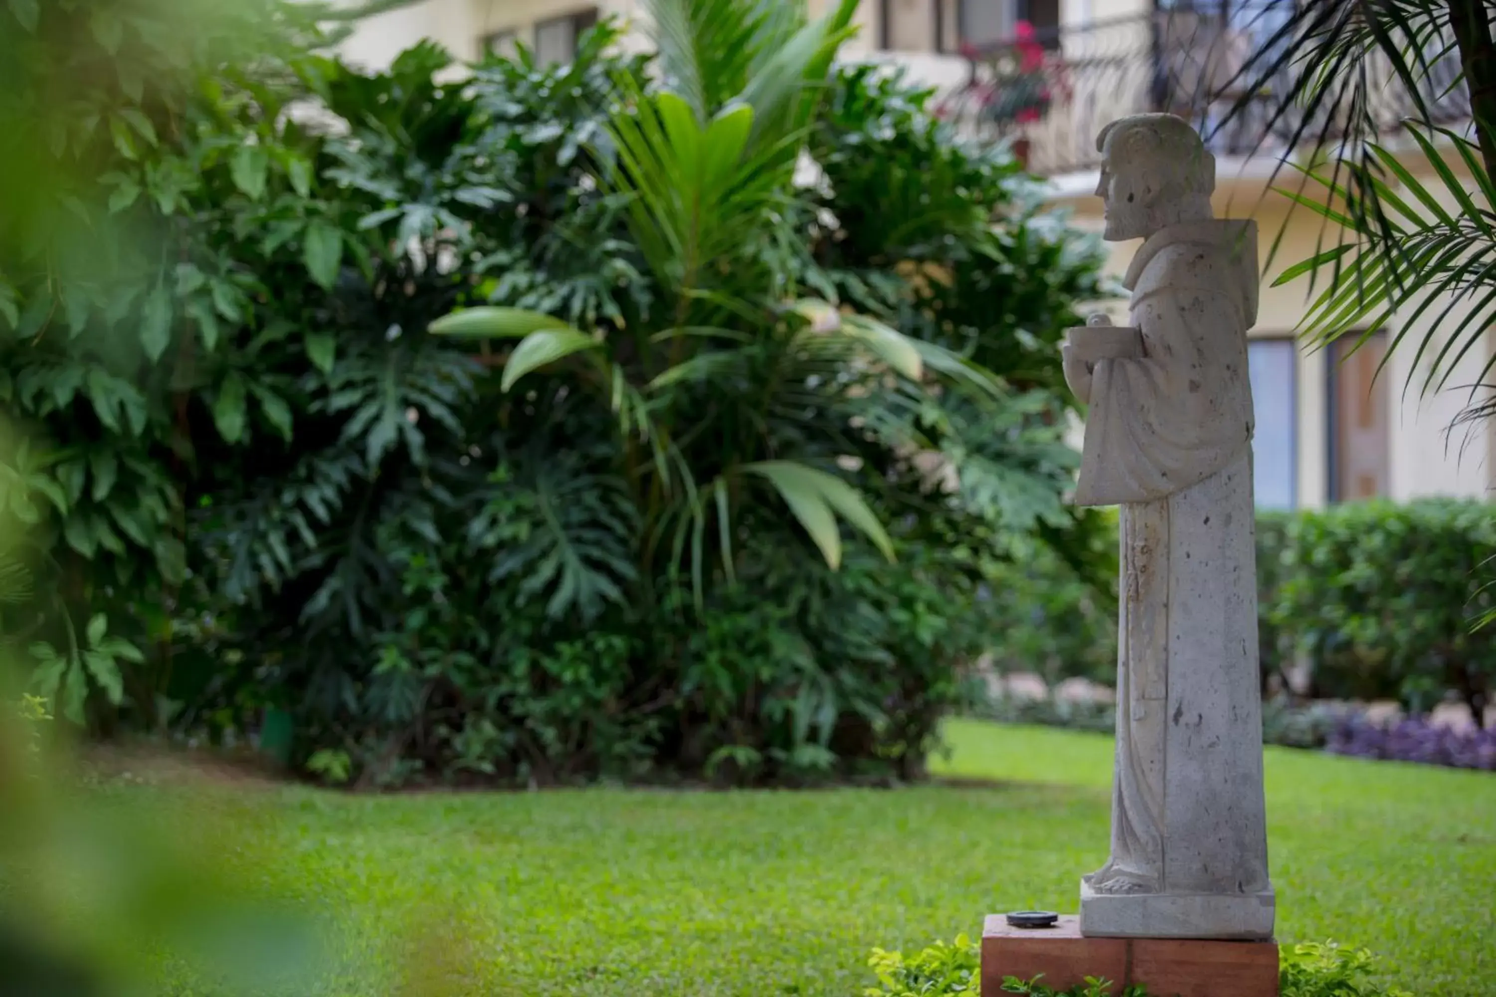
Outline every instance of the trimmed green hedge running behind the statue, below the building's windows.
[[[1496, 610], [1496, 505], [1261, 513], [1257, 578], [1264, 694], [1287, 688], [1302, 653], [1310, 698], [1397, 700], [1412, 714], [1457, 698], [1481, 723], [1496, 676], [1496, 626], [1484, 625]], [[1034, 561], [1007, 581], [999, 670], [1115, 677], [1115, 577], [1088, 589], [1070, 567]]]

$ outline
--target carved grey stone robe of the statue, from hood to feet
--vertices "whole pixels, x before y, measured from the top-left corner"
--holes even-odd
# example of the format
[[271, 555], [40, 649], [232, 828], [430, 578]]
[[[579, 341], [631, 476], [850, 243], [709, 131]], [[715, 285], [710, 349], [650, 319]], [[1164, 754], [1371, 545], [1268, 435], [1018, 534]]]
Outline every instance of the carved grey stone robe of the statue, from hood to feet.
[[1125, 281], [1143, 356], [1092, 374], [1080, 505], [1121, 505], [1112, 858], [1100, 894], [1258, 894], [1267, 879], [1252, 392], [1257, 229], [1150, 236]]

